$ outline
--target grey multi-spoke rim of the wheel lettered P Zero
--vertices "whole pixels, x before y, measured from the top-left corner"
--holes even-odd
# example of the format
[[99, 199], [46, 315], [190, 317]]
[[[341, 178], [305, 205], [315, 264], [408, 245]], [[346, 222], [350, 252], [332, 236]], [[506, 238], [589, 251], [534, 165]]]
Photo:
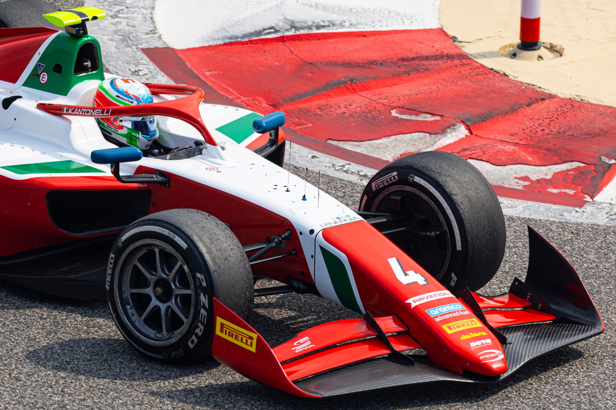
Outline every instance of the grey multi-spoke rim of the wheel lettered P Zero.
[[173, 344], [195, 315], [195, 286], [184, 259], [155, 239], [137, 241], [124, 255], [115, 282], [124, 324], [147, 344]]

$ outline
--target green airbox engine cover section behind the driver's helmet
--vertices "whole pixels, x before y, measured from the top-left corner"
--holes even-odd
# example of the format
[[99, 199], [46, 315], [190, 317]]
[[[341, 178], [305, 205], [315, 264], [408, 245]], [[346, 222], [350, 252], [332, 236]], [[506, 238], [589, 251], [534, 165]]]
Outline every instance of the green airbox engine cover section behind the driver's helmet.
[[[89, 68], [84, 65], [86, 61], [91, 64]], [[39, 70], [41, 65], [43, 67]], [[79, 82], [91, 79], [102, 81], [104, 78], [97, 39], [64, 31], [49, 43], [23, 86], [67, 95]]]

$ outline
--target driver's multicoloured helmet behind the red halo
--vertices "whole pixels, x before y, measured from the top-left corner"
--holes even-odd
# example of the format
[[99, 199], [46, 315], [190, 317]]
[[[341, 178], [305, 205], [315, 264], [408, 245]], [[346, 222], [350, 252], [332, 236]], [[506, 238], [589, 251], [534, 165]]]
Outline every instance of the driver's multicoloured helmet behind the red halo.
[[[122, 107], [154, 102], [150, 90], [132, 78], [108, 78], [100, 82], [94, 107]], [[132, 145], [147, 150], [158, 137], [156, 116], [97, 118], [100, 131], [116, 145]]]

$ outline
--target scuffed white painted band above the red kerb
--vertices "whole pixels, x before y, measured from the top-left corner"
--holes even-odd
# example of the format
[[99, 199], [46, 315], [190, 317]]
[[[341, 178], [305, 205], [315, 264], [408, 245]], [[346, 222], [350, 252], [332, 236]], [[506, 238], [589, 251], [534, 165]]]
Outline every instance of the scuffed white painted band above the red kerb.
[[[318, 31], [440, 28], [440, 0], [158, 0], [169, 46], [209, 46]], [[187, 17], [190, 16], [190, 17]]]

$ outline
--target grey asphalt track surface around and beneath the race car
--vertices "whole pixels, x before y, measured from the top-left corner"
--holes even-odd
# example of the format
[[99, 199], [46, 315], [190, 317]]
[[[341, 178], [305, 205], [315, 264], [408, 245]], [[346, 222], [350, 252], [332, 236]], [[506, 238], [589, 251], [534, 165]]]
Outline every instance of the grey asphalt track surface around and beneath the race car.
[[[308, 179], [316, 184], [314, 173]], [[322, 176], [322, 188], [356, 206], [363, 187]], [[519, 217], [506, 217], [506, 223], [505, 261], [482, 292], [499, 293], [514, 276], [524, 278], [529, 224], [577, 268], [606, 331], [527, 363], [500, 384], [394, 388], [315, 403], [264, 387], [216, 361], [176, 367], [149, 360], [122, 339], [106, 303], [0, 282], [0, 408], [614, 408], [616, 227]], [[310, 326], [352, 317], [314, 295], [285, 294], [258, 298], [252, 324], [275, 344]]]

